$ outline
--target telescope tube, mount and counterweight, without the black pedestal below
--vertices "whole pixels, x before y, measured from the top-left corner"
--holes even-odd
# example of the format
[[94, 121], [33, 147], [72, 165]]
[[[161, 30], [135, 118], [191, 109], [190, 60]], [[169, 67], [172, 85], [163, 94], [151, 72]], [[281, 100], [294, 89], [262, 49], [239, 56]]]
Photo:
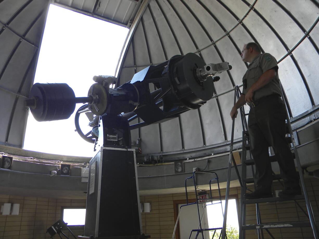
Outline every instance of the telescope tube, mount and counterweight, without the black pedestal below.
[[[159, 65], [151, 65], [116, 89], [114, 76], [94, 76], [95, 83], [87, 97], [75, 97], [65, 83], [36, 83], [25, 106], [37, 121], [68, 119], [77, 103], [81, 106], [75, 116], [78, 134], [100, 147], [130, 148], [130, 130], [160, 123], [190, 109], [198, 109], [214, 93], [214, 76], [232, 67], [228, 62], [205, 64], [196, 54], [175, 55]], [[150, 91], [150, 84], [155, 90]], [[79, 115], [89, 115], [92, 131], [84, 134], [79, 126]], [[144, 122], [129, 125], [140, 117]], [[94, 147], [95, 148], [95, 147]]]

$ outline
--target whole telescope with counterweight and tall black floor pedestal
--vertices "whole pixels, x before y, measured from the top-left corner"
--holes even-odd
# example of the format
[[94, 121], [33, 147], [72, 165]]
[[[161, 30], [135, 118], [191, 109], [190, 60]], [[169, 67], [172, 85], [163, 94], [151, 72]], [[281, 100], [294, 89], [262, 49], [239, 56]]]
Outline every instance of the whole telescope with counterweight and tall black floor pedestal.
[[[81, 238], [146, 239], [142, 234], [135, 149], [130, 130], [160, 123], [198, 109], [214, 94], [214, 76], [232, 67], [228, 62], [205, 64], [198, 55], [173, 56], [137, 72], [115, 89], [114, 76], [94, 76], [86, 97], [75, 97], [65, 83], [33, 85], [25, 105], [38, 121], [75, 115], [78, 134], [95, 143], [99, 152], [89, 163], [84, 235]], [[212, 77], [214, 76], [214, 77]], [[150, 84], [155, 90], [150, 91]], [[84, 134], [79, 115], [85, 113], [92, 130]], [[143, 122], [129, 125], [140, 117]], [[125, 193], [125, 197], [116, 197]], [[123, 216], [125, 215], [125, 216]], [[124, 225], [124, 226], [123, 226]]]

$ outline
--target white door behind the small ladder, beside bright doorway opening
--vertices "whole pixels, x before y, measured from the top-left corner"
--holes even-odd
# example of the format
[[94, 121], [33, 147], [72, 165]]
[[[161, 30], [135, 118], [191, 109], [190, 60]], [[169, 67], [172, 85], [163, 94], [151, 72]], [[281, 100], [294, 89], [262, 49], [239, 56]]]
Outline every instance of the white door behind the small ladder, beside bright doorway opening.
[[[178, 208], [183, 204], [179, 204]], [[204, 208], [204, 204], [199, 204], [199, 213], [202, 217]], [[198, 229], [199, 226], [199, 219], [198, 219], [198, 210], [197, 204], [183, 206], [181, 210], [181, 214], [179, 217], [179, 228], [180, 228], [180, 239], [188, 239], [191, 231], [193, 229]], [[205, 212], [204, 217], [202, 219], [202, 228], [208, 228], [208, 221], [207, 221], [207, 213]], [[195, 239], [196, 232], [192, 233], [191, 239]], [[200, 233], [197, 236], [197, 239], [202, 239], [202, 234]], [[209, 233], [204, 232], [204, 239], [209, 239]]]

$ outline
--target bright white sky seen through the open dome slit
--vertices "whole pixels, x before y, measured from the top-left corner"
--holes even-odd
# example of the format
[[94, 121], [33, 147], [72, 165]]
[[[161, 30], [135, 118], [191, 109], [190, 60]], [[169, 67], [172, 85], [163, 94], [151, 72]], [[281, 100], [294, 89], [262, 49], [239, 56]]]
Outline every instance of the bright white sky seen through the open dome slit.
[[[129, 29], [50, 5], [34, 83], [67, 83], [76, 97], [86, 97], [95, 75], [115, 73]], [[129, 81], [130, 79], [128, 79]], [[83, 104], [77, 104], [75, 111]], [[83, 140], [67, 120], [36, 121], [29, 112], [24, 149], [92, 157], [94, 144]], [[84, 134], [92, 128], [80, 116]]]

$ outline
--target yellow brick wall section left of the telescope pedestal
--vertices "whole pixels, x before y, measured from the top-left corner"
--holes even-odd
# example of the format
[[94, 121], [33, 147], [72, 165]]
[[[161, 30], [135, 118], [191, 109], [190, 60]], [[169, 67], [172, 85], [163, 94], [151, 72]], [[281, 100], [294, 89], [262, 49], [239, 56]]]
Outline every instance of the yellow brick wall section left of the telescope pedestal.
[[[61, 216], [63, 206], [84, 206], [85, 200], [32, 198], [1, 195], [0, 204], [19, 203], [19, 215], [0, 215], [0, 238], [50, 238], [46, 230]], [[75, 235], [83, 234], [82, 228], [72, 228]], [[68, 231], [63, 232], [69, 236]], [[57, 236], [58, 237], [58, 236]]]

